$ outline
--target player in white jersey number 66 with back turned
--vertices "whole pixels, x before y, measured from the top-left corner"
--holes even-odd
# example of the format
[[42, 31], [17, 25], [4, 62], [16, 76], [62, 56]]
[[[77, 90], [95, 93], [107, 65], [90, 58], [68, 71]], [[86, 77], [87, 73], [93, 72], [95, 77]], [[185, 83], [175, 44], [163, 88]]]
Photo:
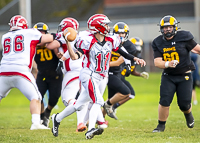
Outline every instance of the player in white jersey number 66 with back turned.
[[54, 37], [50, 34], [42, 35], [37, 29], [28, 29], [27, 20], [21, 15], [13, 16], [9, 25], [9, 32], [1, 40], [3, 57], [0, 66], [0, 100], [12, 88], [18, 88], [30, 101], [30, 129], [49, 129], [40, 124], [41, 94], [30, 71], [36, 45], [52, 42]]

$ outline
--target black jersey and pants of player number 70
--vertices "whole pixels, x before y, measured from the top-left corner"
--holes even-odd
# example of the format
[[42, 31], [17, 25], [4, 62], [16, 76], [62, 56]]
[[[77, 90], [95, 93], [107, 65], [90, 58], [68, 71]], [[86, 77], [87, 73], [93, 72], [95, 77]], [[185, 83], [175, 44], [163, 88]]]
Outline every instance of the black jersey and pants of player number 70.
[[42, 98], [47, 90], [49, 91], [48, 105], [51, 107], [57, 104], [61, 95], [63, 75], [56, 72], [58, 60], [53, 50], [47, 49], [46, 46], [37, 46], [35, 62], [38, 74], [36, 83]]

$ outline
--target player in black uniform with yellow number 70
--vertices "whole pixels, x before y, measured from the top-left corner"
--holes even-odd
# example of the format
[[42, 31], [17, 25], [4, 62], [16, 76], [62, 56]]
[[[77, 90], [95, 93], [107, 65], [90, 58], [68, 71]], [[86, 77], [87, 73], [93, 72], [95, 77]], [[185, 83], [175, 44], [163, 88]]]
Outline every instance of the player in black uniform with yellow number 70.
[[[39, 30], [42, 34], [49, 33], [49, 27], [43, 22], [36, 23], [33, 28]], [[41, 122], [47, 127], [49, 126], [51, 111], [61, 95], [63, 74], [56, 72], [58, 61], [57, 49], [49, 50], [46, 44], [37, 46], [35, 55], [35, 62], [38, 69], [36, 84], [42, 95], [42, 99], [47, 91], [49, 93], [48, 105], [45, 110], [44, 102], [43, 100], [41, 101]]]

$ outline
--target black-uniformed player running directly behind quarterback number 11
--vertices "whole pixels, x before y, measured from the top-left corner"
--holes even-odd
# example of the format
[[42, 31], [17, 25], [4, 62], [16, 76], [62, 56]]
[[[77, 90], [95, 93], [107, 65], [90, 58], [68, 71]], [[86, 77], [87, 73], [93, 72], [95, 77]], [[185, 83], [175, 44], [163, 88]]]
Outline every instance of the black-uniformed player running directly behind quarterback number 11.
[[[117, 22], [113, 26], [113, 33], [119, 35], [120, 39], [122, 40], [121, 44], [128, 53], [136, 53], [136, 47], [131, 41], [128, 40], [129, 27], [126, 23]], [[105, 102], [103, 114], [105, 116], [105, 114], [107, 113], [109, 117], [114, 118], [116, 120], [117, 116], [115, 115], [115, 112], [112, 111], [112, 105], [131, 96], [130, 88], [122, 81], [121, 78], [121, 71], [124, 66], [123, 62], [124, 59], [120, 57], [120, 54], [112, 51], [108, 80], [108, 100]], [[132, 62], [134, 61], [132, 60]], [[118, 65], [114, 65], [116, 63], [118, 63]], [[130, 74], [131, 61], [129, 63], [125, 63], [127, 67], [127, 73], [129, 72]]]

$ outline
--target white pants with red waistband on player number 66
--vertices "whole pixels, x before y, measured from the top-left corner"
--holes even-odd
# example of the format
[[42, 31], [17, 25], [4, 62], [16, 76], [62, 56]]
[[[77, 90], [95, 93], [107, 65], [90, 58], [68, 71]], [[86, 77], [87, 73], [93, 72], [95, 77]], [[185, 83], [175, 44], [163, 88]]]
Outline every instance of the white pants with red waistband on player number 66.
[[0, 99], [6, 97], [12, 88], [19, 89], [29, 101], [42, 99], [31, 72], [1, 72], [0, 87]]

